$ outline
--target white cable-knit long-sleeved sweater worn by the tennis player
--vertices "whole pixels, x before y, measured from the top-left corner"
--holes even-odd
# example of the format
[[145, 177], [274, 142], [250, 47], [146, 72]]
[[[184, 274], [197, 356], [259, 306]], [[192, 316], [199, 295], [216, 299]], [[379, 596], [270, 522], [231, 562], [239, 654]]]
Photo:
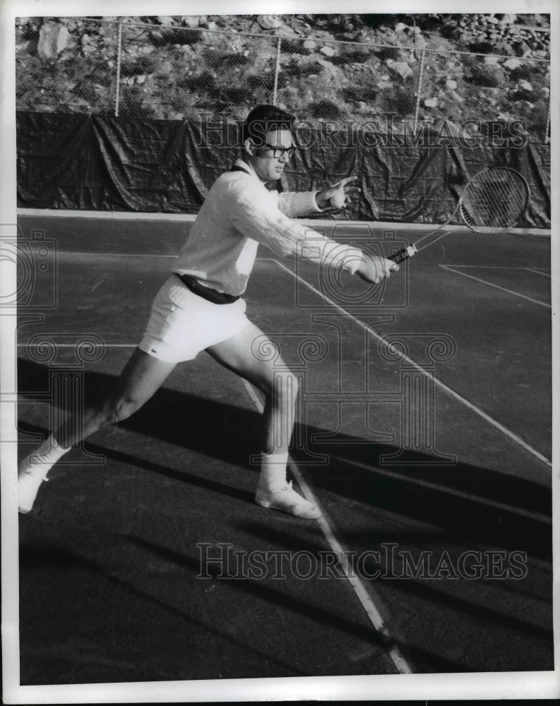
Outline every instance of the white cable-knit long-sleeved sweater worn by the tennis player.
[[279, 256], [299, 256], [318, 265], [355, 273], [362, 251], [324, 237], [291, 220], [320, 213], [314, 191], [268, 191], [246, 162], [246, 172], [226, 172], [213, 184], [173, 271], [196, 277], [227, 294], [243, 294], [258, 244]]

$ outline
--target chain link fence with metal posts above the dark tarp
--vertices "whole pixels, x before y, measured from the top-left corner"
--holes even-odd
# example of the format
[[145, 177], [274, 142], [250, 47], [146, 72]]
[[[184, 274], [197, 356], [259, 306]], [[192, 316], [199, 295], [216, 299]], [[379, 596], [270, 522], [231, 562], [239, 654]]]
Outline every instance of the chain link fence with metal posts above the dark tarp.
[[317, 124], [387, 125], [391, 116], [393, 131], [445, 123], [453, 135], [498, 122], [523, 124], [530, 141], [549, 139], [549, 59], [429, 49], [415, 32], [392, 46], [23, 18], [16, 33], [21, 110], [235, 121], [273, 102]]

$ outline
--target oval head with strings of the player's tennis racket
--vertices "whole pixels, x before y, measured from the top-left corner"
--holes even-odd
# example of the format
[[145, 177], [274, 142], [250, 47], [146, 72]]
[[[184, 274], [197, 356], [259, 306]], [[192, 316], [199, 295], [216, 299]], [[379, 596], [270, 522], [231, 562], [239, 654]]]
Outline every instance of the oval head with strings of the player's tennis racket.
[[488, 169], [467, 184], [461, 195], [461, 213], [467, 225], [508, 228], [517, 222], [528, 202], [528, 187], [516, 172]]

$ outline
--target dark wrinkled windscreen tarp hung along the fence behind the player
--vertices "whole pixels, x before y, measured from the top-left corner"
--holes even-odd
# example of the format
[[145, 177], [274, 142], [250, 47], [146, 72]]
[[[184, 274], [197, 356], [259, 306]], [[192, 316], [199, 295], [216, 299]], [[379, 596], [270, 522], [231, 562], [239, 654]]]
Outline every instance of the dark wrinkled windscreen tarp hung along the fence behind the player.
[[[490, 165], [518, 169], [531, 203], [525, 227], [550, 227], [549, 145], [470, 146], [429, 135], [307, 128], [282, 183], [308, 191], [356, 174], [352, 220], [441, 223], [461, 186]], [[238, 126], [203, 121], [17, 113], [18, 205], [27, 208], [197, 213], [239, 156]]]

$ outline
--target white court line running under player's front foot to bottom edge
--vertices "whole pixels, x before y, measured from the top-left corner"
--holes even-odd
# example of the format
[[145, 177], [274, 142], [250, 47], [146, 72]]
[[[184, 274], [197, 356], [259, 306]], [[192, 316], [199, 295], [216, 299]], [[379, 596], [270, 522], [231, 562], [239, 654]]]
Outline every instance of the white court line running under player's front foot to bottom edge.
[[[244, 380], [243, 378], [242, 382], [245, 385], [247, 393], [249, 394], [249, 397], [251, 398], [251, 401], [253, 402], [254, 406], [256, 407], [258, 412], [261, 412], [262, 414], [264, 409], [263, 402], [261, 402], [258, 395], [256, 394], [253, 385], [251, 385], [251, 383]], [[383, 617], [381, 616], [379, 609], [374, 603], [374, 600], [371, 598], [367, 587], [364, 585], [364, 582], [359, 578], [359, 576], [357, 576], [352, 570], [352, 566], [348, 561], [347, 554], [340, 542], [338, 542], [338, 539], [336, 539], [335, 534], [323, 513], [321, 505], [318, 503], [317, 498], [315, 497], [315, 493], [311, 490], [311, 487], [304, 480], [304, 477], [302, 476], [302, 473], [300, 472], [295, 462], [293, 460], [290, 460], [289, 465], [290, 470], [294, 474], [297, 484], [302, 489], [302, 493], [304, 494], [306, 500], [308, 500], [310, 503], [313, 503], [319, 508], [321, 515], [319, 515], [319, 517], [317, 518], [318, 525], [319, 527], [321, 527], [321, 530], [325, 535], [325, 539], [327, 540], [330, 549], [332, 549], [333, 552], [336, 554], [338, 562], [340, 563], [340, 568], [342, 568], [345, 578], [350, 583], [350, 586], [354, 590], [357, 598], [359, 599], [359, 602], [362, 604], [362, 607], [366, 611], [369, 621], [374, 626], [376, 633], [381, 635], [383, 641], [386, 642], [386, 650], [389, 654], [389, 657], [391, 657], [393, 664], [395, 665], [399, 674], [412, 674], [410, 664], [408, 664], [406, 659], [403, 657], [397, 645], [392, 642], [391, 635], [389, 634], [385, 621], [383, 621]]]

